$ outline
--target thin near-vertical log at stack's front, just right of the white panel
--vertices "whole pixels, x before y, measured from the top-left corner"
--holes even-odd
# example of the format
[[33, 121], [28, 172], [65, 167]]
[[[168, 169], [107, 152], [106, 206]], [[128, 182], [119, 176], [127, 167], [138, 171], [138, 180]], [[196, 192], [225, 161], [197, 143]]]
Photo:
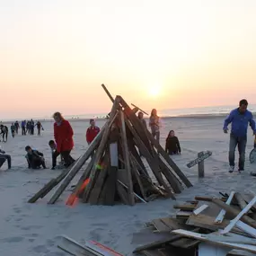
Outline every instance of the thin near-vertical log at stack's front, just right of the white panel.
[[129, 163], [129, 153], [128, 153], [128, 141], [127, 141], [127, 131], [125, 126], [125, 118], [123, 111], [119, 111], [120, 120], [121, 120], [121, 138], [122, 138], [122, 145], [124, 148], [124, 161], [127, 170], [127, 184], [128, 184], [128, 197], [129, 197], [129, 204], [133, 206], [135, 204], [135, 199], [133, 195], [133, 182], [131, 176], [131, 168]]

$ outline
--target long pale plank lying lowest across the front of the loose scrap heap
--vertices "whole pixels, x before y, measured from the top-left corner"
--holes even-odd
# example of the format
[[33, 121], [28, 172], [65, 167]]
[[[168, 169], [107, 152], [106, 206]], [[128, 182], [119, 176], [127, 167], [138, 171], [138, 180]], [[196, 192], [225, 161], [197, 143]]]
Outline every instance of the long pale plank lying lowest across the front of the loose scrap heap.
[[255, 245], [243, 244], [243, 243], [225, 243], [225, 242], [221, 242], [221, 241], [212, 241], [211, 239], [208, 239], [205, 234], [199, 234], [199, 233], [195, 233], [195, 232], [191, 232], [191, 231], [187, 231], [187, 230], [182, 230], [182, 229], [174, 230], [174, 231], [172, 231], [172, 234], [180, 234], [181, 236], [191, 237], [191, 238], [197, 239], [199, 241], [203, 241], [203, 242], [215, 243], [219, 246], [226, 246], [226, 247], [229, 247], [232, 249], [240, 249], [240, 250], [244, 250], [247, 252], [254, 252], [254, 253], [256, 252]]

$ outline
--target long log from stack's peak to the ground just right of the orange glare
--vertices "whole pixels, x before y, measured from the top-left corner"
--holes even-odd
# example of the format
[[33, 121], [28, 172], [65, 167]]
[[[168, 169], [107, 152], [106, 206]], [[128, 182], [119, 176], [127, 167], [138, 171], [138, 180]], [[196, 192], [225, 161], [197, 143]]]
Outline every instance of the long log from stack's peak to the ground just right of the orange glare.
[[[119, 109], [119, 100], [116, 98], [113, 106], [112, 106], [112, 110], [110, 112], [110, 119], [108, 119], [107, 122], [107, 129], [104, 132], [103, 136], [102, 136], [102, 140], [100, 143], [100, 146], [98, 147], [97, 151], [96, 151], [96, 155], [95, 155], [95, 163], [99, 163], [101, 158], [102, 158], [102, 154], [106, 148], [106, 143], [108, 141], [108, 137], [110, 136], [110, 128], [109, 125], [110, 123], [113, 121], [113, 119], [116, 117], [116, 111]], [[90, 182], [89, 184], [86, 186], [85, 192], [84, 192], [84, 202], [87, 202], [89, 197], [90, 197], [90, 193], [93, 190], [93, 184], [94, 184], [94, 179], [96, 176], [96, 172], [97, 172], [97, 168], [93, 168], [91, 174], [90, 174]]]

